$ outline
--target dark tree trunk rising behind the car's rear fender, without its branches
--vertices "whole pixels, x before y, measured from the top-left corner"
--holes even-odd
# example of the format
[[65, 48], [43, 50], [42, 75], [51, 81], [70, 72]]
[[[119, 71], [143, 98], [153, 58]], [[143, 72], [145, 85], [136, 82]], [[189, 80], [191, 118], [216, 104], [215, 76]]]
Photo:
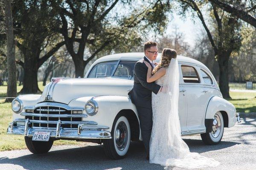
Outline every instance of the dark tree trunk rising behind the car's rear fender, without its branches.
[[219, 88], [221, 90], [222, 96], [225, 99], [230, 99], [229, 94], [229, 78], [228, 78], [228, 54], [221, 54], [218, 56], [218, 64], [220, 68], [220, 76], [219, 76]]

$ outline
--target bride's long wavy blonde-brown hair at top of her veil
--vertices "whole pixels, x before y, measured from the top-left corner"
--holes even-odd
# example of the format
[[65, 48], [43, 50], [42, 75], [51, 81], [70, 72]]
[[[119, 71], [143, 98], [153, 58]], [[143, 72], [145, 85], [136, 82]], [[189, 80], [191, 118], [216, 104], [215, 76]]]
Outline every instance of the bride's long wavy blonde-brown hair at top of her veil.
[[171, 62], [171, 59], [176, 57], [177, 57], [177, 52], [174, 49], [163, 48], [163, 51], [161, 54], [161, 60], [159, 64], [152, 71], [152, 74], [156, 74], [156, 72], [160, 70], [160, 68], [167, 68]]

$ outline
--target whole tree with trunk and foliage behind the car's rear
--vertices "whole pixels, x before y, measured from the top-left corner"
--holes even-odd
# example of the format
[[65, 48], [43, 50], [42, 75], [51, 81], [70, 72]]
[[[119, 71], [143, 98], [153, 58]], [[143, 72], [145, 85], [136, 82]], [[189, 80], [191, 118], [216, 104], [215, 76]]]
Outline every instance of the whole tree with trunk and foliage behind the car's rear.
[[[189, 7], [192, 11], [195, 11], [198, 18], [201, 20], [204, 29], [207, 32], [207, 36], [214, 50], [215, 59], [218, 61], [220, 74], [219, 74], [219, 88], [224, 98], [230, 98], [229, 94], [229, 59], [233, 52], [239, 51], [241, 46], [241, 35], [239, 34], [241, 29], [241, 23], [221, 9], [217, 8], [214, 4], [207, 1], [195, 2], [194, 0], [180, 0], [182, 3], [183, 12]], [[210, 17], [212, 18], [210, 26], [214, 29], [209, 30], [204, 16], [199, 6], [209, 6]]]

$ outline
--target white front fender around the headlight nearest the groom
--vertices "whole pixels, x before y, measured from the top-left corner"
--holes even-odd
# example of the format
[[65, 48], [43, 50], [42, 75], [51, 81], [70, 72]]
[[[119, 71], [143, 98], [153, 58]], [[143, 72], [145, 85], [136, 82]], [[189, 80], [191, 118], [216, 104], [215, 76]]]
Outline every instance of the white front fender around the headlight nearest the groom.
[[136, 107], [131, 103], [131, 99], [127, 96], [80, 97], [73, 99], [69, 105], [82, 107], [92, 98], [98, 103], [99, 110], [94, 116], [88, 115], [88, 117], [83, 120], [98, 122], [98, 125], [108, 126], [109, 131], [111, 131], [114, 119], [121, 110], [127, 109], [134, 111], [138, 119]]

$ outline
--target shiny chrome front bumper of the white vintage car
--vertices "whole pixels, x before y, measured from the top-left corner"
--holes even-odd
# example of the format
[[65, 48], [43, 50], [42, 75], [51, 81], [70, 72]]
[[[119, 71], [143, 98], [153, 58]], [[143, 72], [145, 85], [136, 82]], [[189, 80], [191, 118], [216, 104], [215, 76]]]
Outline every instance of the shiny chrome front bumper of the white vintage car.
[[[25, 125], [17, 125], [17, 122], [25, 122]], [[55, 121], [57, 127], [31, 127], [30, 123], [37, 123], [37, 120], [15, 119], [9, 123], [8, 134], [33, 136], [35, 131], [51, 132], [50, 136], [56, 139], [111, 139], [111, 133], [106, 131], [109, 127], [98, 126], [97, 122], [83, 121], [78, 124], [78, 128], [62, 128], [61, 124], [66, 122]], [[41, 121], [42, 122], [42, 121]], [[52, 123], [54, 121], [45, 121]]]

